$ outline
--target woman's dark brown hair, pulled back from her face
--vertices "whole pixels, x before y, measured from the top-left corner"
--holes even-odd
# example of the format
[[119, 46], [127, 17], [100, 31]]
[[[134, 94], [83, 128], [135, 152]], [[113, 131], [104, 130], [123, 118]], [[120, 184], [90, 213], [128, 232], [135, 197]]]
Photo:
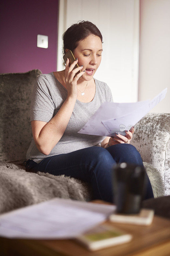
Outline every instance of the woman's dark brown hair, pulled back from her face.
[[[79, 22], [79, 21], [78, 21]], [[82, 20], [79, 23], [75, 23], [71, 25], [62, 35], [63, 39], [63, 48], [62, 53], [63, 56], [66, 53], [66, 49], [71, 50], [72, 52], [74, 49], [78, 46], [78, 43], [80, 40], [85, 39], [89, 35], [95, 35], [99, 36], [101, 41], [103, 39], [102, 34], [100, 30], [96, 27], [95, 24], [92, 22], [86, 20]], [[103, 42], [102, 42], [103, 44]], [[66, 63], [63, 61], [63, 66], [65, 66]]]

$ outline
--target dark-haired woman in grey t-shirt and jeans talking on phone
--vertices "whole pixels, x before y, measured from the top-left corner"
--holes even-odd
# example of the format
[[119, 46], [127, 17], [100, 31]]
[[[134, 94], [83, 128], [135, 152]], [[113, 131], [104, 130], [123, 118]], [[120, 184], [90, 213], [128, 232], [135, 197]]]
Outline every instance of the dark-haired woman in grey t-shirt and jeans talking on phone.
[[[63, 53], [70, 49], [76, 60], [69, 67], [67, 59], [64, 70], [42, 74], [35, 81], [30, 115], [33, 138], [26, 171], [65, 174], [89, 182], [93, 199], [113, 203], [113, 165], [143, 166], [139, 152], [129, 144], [134, 128], [126, 136], [117, 133], [113, 138], [78, 133], [101, 104], [113, 98], [109, 86], [93, 78], [102, 60], [99, 29], [89, 21], [73, 24], [63, 34], [63, 43]], [[77, 63], [79, 67], [73, 70]], [[145, 199], [151, 197], [147, 176]]]

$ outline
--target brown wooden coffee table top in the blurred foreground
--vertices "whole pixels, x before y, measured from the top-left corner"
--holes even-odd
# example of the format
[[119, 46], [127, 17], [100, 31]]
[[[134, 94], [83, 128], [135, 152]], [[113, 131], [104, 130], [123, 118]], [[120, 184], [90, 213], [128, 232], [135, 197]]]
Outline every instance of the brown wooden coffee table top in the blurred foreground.
[[[110, 204], [101, 200], [93, 203]], [[74, 239], [26, 240], [0, 237], [0, 256], [168, 256], [170, 255], [170, 220], [154, 216], [150, 226], [110, 225], [131, 233], [131, 242], [90, 252]]]

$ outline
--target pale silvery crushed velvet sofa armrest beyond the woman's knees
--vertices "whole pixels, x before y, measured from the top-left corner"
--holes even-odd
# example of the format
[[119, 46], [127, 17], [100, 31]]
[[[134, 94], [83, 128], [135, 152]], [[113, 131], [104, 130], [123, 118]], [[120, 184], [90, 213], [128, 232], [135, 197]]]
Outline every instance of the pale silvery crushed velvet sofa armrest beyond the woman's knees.
[[163, 180], [165, 195], [170, 195], [170, 113], [148, 113], [136, 125], [131, 144], [143, 162], [152, 164]]

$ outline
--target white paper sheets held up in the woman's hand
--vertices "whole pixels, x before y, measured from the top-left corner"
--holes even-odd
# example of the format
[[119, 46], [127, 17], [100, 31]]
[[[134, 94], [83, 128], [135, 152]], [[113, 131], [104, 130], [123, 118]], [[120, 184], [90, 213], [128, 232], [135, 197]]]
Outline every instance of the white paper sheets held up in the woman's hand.
[[129, 131], [163, 100], [166, 92], [167, 87], [152, 100], [132, 103], [104, 102], [78, 133], [116, 137], [116, 132], [119, 132], [125, 136], [125, 130]]

